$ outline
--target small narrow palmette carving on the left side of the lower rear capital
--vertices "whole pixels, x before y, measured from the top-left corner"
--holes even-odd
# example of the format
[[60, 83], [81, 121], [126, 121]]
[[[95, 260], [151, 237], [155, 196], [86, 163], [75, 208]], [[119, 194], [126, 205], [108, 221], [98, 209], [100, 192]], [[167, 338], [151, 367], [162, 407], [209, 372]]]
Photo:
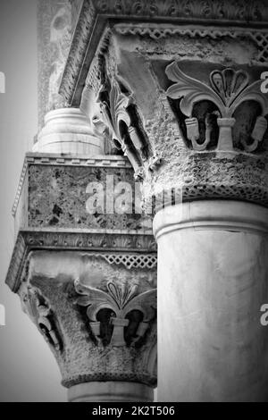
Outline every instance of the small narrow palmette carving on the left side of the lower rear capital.
[[41, 292], [25, 283], [21, 285], [21, 306], [23, 312], [29, 315], [30, 319], [38, 327], [49, 346], [55, 351], [63, 348], [63, 342], [56, 328], [54, 313], [49, 303]]

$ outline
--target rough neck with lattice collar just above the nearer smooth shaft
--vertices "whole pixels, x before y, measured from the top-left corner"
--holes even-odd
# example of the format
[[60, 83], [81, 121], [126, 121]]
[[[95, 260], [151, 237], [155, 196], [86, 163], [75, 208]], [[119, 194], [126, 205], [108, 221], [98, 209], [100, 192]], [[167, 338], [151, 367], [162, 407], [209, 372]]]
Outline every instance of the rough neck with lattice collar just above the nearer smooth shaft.
[[[167, 162], [167, 161], [166, 161]], [[147, 179], [143, 191], [160, 209], [204, 198], [238, 199], [268, 206], [267, 156], [239, 153], [180, 154]], [[151, 199], [147, 207], [151, 208]], [[158, 203], [158, 204], [157, 204]]]

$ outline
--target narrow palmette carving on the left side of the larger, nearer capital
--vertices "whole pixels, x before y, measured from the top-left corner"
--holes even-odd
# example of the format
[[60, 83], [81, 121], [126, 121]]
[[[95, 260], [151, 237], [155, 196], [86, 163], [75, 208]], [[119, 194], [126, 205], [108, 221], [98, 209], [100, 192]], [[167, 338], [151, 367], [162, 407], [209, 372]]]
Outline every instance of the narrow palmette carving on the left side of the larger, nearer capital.
[[114, 55], [113, 49], [108, 60], [103, 53], [98, 55], [88, 73], [88, 87], [94, 90], [99, 104], [99, 112], [93, 115], [92, 123], [102, 136], [110, 140], [112, 150], [116, 148], [129, 158], [134, 178], [142, 181], [145, 167], [155, 171], [162, 163], [163, 155], [147, 138], [133, 94], [126, 81], [117, 75]]

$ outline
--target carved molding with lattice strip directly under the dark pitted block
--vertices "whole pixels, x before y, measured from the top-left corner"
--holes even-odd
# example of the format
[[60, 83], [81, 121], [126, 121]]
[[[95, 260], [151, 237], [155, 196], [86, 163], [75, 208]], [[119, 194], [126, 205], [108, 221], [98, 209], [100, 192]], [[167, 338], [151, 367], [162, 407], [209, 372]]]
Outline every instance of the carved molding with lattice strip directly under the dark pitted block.
[[157, 258], [152, 232], [20, 231], [5, 280], [14, 292], [20, 288], [21, 271], [33, 250], [87, 251], [88, 256], [101, 256], [109, 264], [126, 268], [155, 268]]

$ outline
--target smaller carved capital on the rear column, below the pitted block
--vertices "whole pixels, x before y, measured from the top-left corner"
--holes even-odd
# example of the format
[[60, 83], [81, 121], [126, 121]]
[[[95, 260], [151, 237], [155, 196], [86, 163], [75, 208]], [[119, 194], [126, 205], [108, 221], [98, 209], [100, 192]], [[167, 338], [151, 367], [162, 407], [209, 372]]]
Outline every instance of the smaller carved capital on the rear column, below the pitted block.
[[63, 385], [156, 385], [156, 271], [94, 253], [32, 251], [18, 293], [54, 353]]

